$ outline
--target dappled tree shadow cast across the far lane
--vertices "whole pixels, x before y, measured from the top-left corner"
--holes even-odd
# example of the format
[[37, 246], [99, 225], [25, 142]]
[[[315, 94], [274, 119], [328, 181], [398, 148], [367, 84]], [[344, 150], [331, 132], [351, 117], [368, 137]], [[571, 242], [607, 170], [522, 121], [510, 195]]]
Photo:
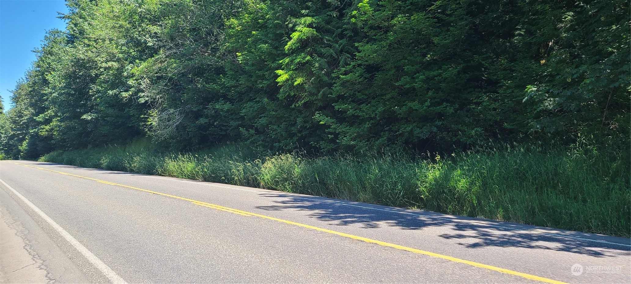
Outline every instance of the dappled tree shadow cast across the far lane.
[[[546, 249], [596, 257], [631, 256], [628, 246], [607, 244], [589, 239], [577, 239], [577, 232], [535, 232], [532, 226], [493, 220], [482, 220], [461, 216], [442, 215], [428, 211], [400, 210], [385, 206], [356, 203], [352, 201], [330, 201], [330, 199], [302, 198], [289, 194], [260, 194], [268, 198], [283, 199], [273, 201], [276, 205], [257, 206], [262, 210], [307, 211], [307, 216], [322, 220], [329, 225], [356, 225], [362, 228], [394, 227], [400, 230], [425, 230], [439, 227], [435, 234], [448, 240], [460, 240], [460, 246], [480, 247], [523, 247]], [[363, 207], [360, 207], [363, 206]], [[382, 207], [382, 208], [381, 208]], [[442, 234], [441, 234], [442, 233]], [[553, 234], [559, 235], [553, 235]], [[560, 234], [568, 234], [564, 237]], [[570, 238], [571, 237], [571, 238]], [[620, 240], [624, 240], [620, 238]]]

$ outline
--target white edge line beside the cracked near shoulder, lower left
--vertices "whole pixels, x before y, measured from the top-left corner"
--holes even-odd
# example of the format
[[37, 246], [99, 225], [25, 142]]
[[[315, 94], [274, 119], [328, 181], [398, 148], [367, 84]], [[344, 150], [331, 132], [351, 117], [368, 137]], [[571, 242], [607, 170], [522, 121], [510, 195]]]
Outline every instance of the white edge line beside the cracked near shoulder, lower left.
[[64, 239], [68, 240], [68, 242], [71, 245], [73, 245], [73, 247], [77, 251], [81, 252], [81, 254], [83, 254], [83, 256], [85, 256], [85, 258], [88, 259], [88, 261], [90, 261], [90, 263], [92, 263], [96, 268], [98, 268], [103, 273], [103, 275], [105, 275], [107, 278], [109, 278], [109, 280], [112, 281], [112, 283], [115, 283], [115, 284], [126, 284], [127, 283], [125, 280], [123, 280], [121, 278], [121, 276], [117, 275], [114, 272], [114, 270], [112, 270], [112, 268], [107, 266], [107, 264], [103, 263], [103, 261], [101, 261], [101, 259], [99, 259], [97, 256], [95, 256], [91, 251], [88, 251], [88, 249], [86, 249], [86, 247], [84, 247], [77, 239], [74, 239], [74, 237], [72, 235], [68, 234], [68, 232], [66, 232], [66, 230], [64, 230], [64, 228], [59, 226], [59, 224], [57, 224], [57, 222], [52, 220], [48, 215], [46, 215], [46, 213], [44, 213], [42, 210], [40, 210], [40, 208], [37, 208], [37, 206], [35, 206], [35, 204], [33, 204], [31, 201], [28, 201], [28, 199], [25, 198], [22, 194], [20, 194], [20, 192], [16, 191], [15, 189], [13, 189], [13, 187], [11, 187], [8, 184], [6, 184], [6, 182], [4, 182], [4, 180], [0, 179], [0, 182], [2, 182], [4, 184], [4, 186], [6, 186], [8, 189], [13, 191], [13, 193], [16, 196], [18, 196], [20, 199], [22, 199], [22, 201], [24, 201], [24, 203], [26, 203], [33, 211], [35, 211], [38, 215], [42, 216], [42, 218], [44, 218], [44, 220], [46, 220], [46, 222], [48, 222], [50, 224], [50, 226], [52, 226], [57, 232], [59, 232], [59, 234], [62, 237], [64, 237]]

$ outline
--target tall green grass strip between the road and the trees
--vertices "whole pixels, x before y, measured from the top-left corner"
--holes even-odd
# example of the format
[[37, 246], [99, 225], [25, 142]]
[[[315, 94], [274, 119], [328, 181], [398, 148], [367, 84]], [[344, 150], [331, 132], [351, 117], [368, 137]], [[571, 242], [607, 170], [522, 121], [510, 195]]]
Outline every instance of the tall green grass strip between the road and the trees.
[[194, 153], [155, 146], [54, 151], [56, 162], [206, 180], [629, 237], [628, 153], [597, 146], [413, 155], [256, 155], [227, 145]]

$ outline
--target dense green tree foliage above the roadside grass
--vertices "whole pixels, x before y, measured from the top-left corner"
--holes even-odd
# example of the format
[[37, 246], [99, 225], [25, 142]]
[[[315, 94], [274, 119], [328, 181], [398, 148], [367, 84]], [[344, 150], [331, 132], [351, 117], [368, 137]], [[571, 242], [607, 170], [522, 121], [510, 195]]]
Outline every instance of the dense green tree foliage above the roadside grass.
[[628, 145], [628, 1], [67, 4], [0, 115], [5, 155], [146, 135], [274, 151]]

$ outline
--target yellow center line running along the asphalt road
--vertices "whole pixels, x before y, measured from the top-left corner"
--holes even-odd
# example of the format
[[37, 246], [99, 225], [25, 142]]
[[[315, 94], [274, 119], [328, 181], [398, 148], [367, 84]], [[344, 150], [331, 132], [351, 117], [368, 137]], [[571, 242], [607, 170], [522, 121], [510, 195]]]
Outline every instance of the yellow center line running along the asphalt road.
[[440, 258], [440, 259], [446, 259], [448, 261], [453, 261], [454, 263], [463, 263], [463, 264], [468, 264], [468, 265], [475, 266], [475, 267], [478, 267], [478, 268], [485, 268], [485, 269], [489, 269], [489, 270], [492, 270], [492, 271], [497, 271], [497, 272], [500, 272], [500, 273], [505, 273], [505, 274], [514, 275], [514, 276], [520, 276], [520, 277], [526, 278], [528, 280], [535, 280], [535, 281], [541, 281], [541, 282], [553, 283], [553, 284], [567, 284], [567, 283], [562, 282], [562, 281], [552, 280], [552, 279], [548, 279], [548, 278], [541, 277], [541, 276], [536, 276], [536, 275], [530, 275], [528, 273], [521, 273], [519, 271], [513, 271], [513, 270], [505, 269], [505, 268], [499, 268], [497, 266], [492, 266], [492, 265], [482, 264], [482, 263], [476, 263], [475, 261], [468, 261], [468, 260], [465, 260], [465, 259], [459, 259], [457, 257], [445, 256], [444, 254], [437, 254], [435, 252], [422, 251], [420, 249], [415, 249], [415, 248], [412, 248], [412, 247], [399, 246], [398, 244], [391, 244], [389, 242], [382, 242], [380, 240], [374, 240], [374, 239], [369, 239], [369, 238], [366, 238], [366, 237], [360, 237], [358, 235], [346, 234], [346, 233], [342, 233], [342, 232], [338, 232], [338, 231], [334, 231], [334, 230], [329, 230], [329, 229], [326, 229], [326, 228], [314, 227], [314, 226], [306, 225], [306, 224], [303, 224], [303, 223], [292, 222], [292, 221], [289, 221], [289, 220], [283, 220], [283, 219], [274, 218], [274, 217], [271, 217], [271, 216], [261, 215], [261, 214], [257, 214], [257, 213], [252, 213], [252, 212], [248, 212], [248, 211], [242, 211], [242, 210], [229, 208], [229, 207], [225, 207], [225, 206], [221, 206], [221, 205], [217, 205], [217, 204], [211, 204], [211, 203], [206, 203], [206, 202], [198, 201], [198, 200], [194, 200], [194, 199], [183, 198], [181, 196], [175, 196], [175, 195], [167, 194], [167, 193], [163, 193], [163, 192], [150, 191], [148, 189], [141, 189], [141, 188], [138, 188], [138, 187], [126, 186], [124, 184], [117, 184], [117, 183], [114, 183], [114, 182], [108, 182], [108, 181], [100, 180], [100, 179], [93, 179], [91, 177], [84, 177], [83, 175], [74, 175], [74, 174], [68, 174], [67, 172], [58, 172], [57, 170], [50, 170], [50, 169], [35, 167], [35, 166], [32, 166], [32, 165], [26, 165], [26, 164], [23, 164], [23, 163], [16, 163], [16, 162], [9, 162], [9, 163], [15, 163], [17, 165], [23, 165], [23, 166], [26, 166], [26, 167], [32, 167], [32, 168], [40, 169], [40, 170], [48, 170], [50, 172], [56, 172], [58, 174], [72, 175], [73, 177], [80, 177], [82, 179], [94, 180], [94, 181], [97, 181], [97, 182], [101, 182], [103, 184], [108, 184], [110, 186], [122, 186], [122, 187], [131, 188], [131, 189], [136, 189], [136, 190], [139, 190], [139, 191], [149, 192], [151, 194], [158, 194], [158, 195], [167, 196], [167, 197], [170, 197], [170, 198], [181, 199], [181, 200], [189, 201], [190, 203], [196, 204], [196, 205], [199, 205], [199, 206], [213, 208], [213, 209], [221, 210], [221, 211], [227, 211], [227, 212], [239, 214], [239, 215], [242, 215], [242, 216], [257, 216], [257, 217], [265, 218], [265, 219], [268, 219], [268, 220], [274, 220], [274, 221], [278, 221], [278, 222], [282, 222], [282, 223], [287, 223], [287, 224], [290, 224], [290, 225], [296, 225], [298, 227], [310, 228], [310, 229], [318, 230], [318, 231], [321, 231], [321, 232], [327, 232], [329, 234], [339, 235], [341, 237], [347, 237], [347, 238], [354, 239], [354, 240], [361, 240], [363, 242], [368, 242], [370, 244], [377, 244], [379, 246], [384, 246], [384, 247], [392, 247], [394, 249], [400, 249], [402, 251], [409, 251], [409, 252], [414, 252], [416, 254], [424, 254], [426, 256], [437, 257], [437, 258]]

